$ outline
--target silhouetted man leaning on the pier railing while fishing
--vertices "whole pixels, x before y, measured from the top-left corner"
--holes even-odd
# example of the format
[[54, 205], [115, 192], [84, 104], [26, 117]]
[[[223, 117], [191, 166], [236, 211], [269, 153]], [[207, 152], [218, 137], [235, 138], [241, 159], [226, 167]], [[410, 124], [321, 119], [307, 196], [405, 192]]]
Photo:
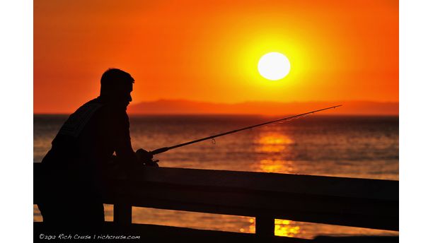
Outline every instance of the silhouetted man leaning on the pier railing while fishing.
[[142, 170], [152, 155], [134, 153], [129, 137], [127, 105], [134, 78], [108, 69], [100, 79], [100, 96], [69, 116], [42, 160], [44, 182], [38, 207], [45, 223], [98, 225], [104, 221], [103, 174], [113, 153], [126, 171]]

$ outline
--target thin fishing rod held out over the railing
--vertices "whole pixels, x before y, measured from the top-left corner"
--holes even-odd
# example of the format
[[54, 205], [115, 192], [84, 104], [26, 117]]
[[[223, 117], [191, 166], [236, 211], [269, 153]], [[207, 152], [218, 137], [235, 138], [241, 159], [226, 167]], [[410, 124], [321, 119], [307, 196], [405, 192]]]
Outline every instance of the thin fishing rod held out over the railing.
[[285, 117], [285, 118], [282, 118], [282, 119], [277, 119], [275, 121], [267, 121], [267, 122], [263, 122], [263, 123], [260, 123], [260, 124], [257, 124], [257, 125], [247, 126], [247, 127], [241, 128], [241, 129], [236, 129], [236, 130], [233, 130], [233, 131], [226, 131], [225, 133], [222, 133], [222, 134], [216, 134], [216, 135], [212, 135], [212, 136], [207, 136], [205, 138], [196, 139], [196, 140], [189, 141], [189, 142], [186, 142], [186, 143], [180, 143], [180, 144], [175, 145], [175, 146], [158, 148], [156, 150], [149, 151], [149, 153], [151, 153], [151, 155], [156, 155], [158, 153], [164, 153], [164, 152], [166, 152], [168, 150], [172, 150], [173, 148], [179, 148], [179, 147], [190, 145], [192, 143], [198, 143], [198, 142], [205, 141], [205, 140], [208, 140], [208, 139], [214, 139], [214, 138], [217, 138], [217, 137], [220, 137], [220, 136], [226, 136], [228, 134], [234, 134], [234, 133], [237, 133], [238, 131], [243, 131], [243, 130], [247, 130], [247, 129], [253, 129], [253, 128], [258, 127], [258, 126], [264, 126], [264, 125], [272, 124], [272, 123], [275, 123], [275, 122], [278, 122], [278, 121], [284, 121], [284, 120], [288, 120], [288, 119], [299, 118], [299, 117], [302, 117], [302, 116], [306, 116], [308, 114], [313, 114], [313, 113], [316, 113], [316, 112], [322, 112], [322, 111], [324, 111], [326, 109], [333, 109], [333, 108], [335, 109], [335, 108], [340, 107], [340, 106], [342, 106], [342, 105], [335, 105], [333, 107], [328, 107], [328, 108], [323, 108], [323, 109], [316, 109], [316, 110], [314, 110], [312, 112], [306, 112], [306, 113], [303, 113], [303, 114], [297, 114], [296, 116], [293, 116], [293, 117]]

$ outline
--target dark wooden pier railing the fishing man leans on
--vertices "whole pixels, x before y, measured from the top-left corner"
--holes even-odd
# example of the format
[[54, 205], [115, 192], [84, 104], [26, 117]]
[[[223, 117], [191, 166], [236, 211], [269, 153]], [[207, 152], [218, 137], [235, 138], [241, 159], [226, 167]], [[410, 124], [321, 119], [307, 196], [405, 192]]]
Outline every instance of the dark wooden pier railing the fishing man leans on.
[[261, 236], [274, 235], [275, 218], [398, 231], [398, 181], [144, 167], [108, 182], [104, 203], [119, 224], [132, 223], [137, 206], [255, 217]]

